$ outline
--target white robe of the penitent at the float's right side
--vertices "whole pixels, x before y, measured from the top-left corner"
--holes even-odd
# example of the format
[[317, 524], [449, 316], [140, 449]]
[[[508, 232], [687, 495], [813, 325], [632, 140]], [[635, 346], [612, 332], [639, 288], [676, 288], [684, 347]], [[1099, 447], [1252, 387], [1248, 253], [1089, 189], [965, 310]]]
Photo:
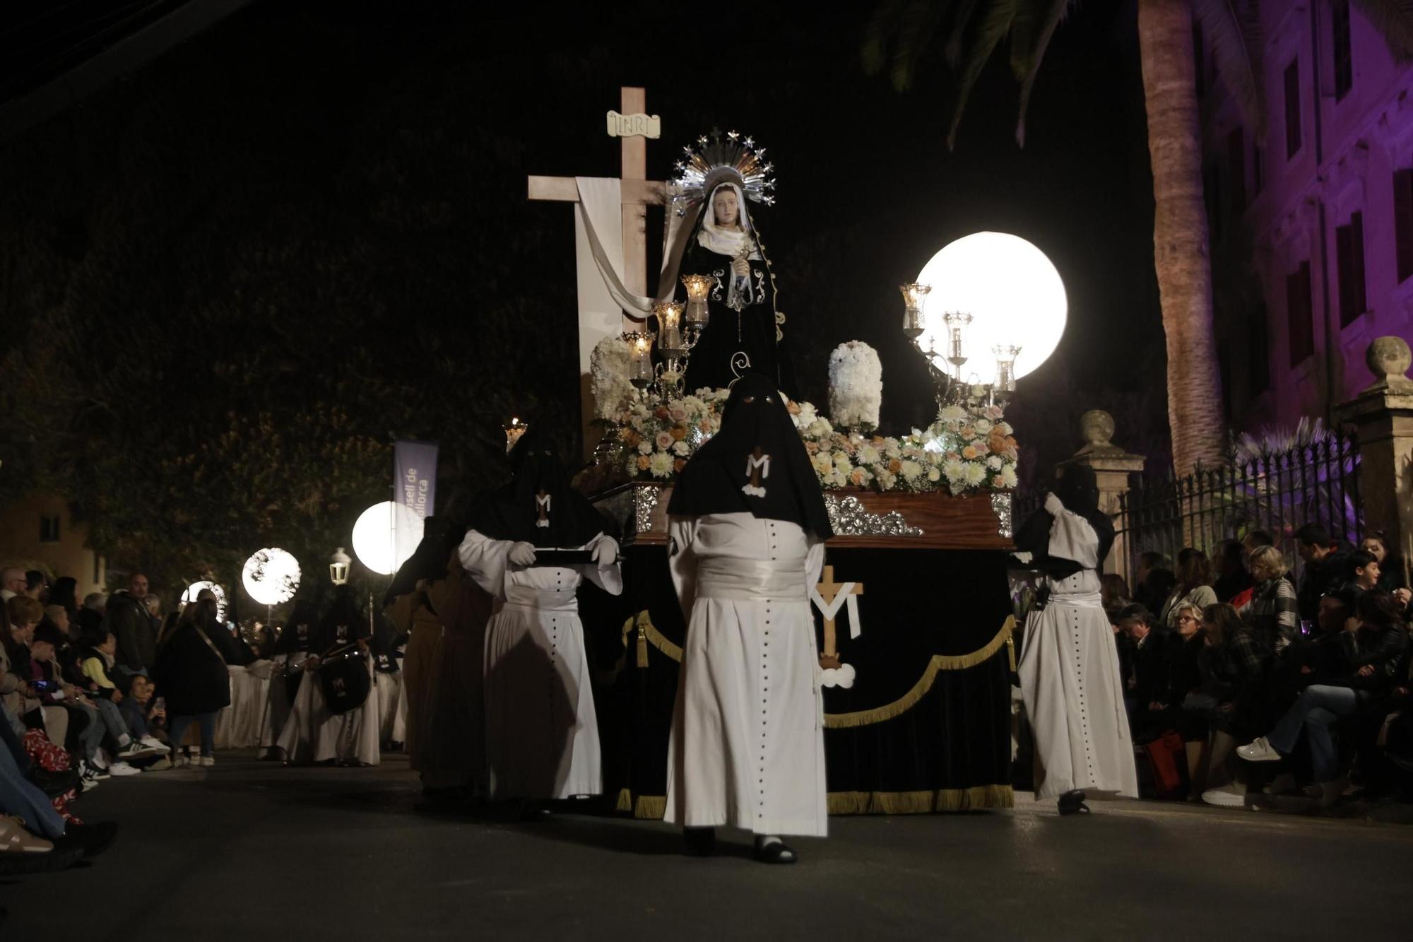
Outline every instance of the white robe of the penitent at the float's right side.
[[1036, 741], [1036, 798], [1077, 788], [1139, 795], [1119, 652], [1099, 601], [1098, 550], [1088, 521], [1070, 511], [1056, 516], [1050, 554], [1084, 569], [1047, 578], [1048, 604], [1026, 620], [1019, 673]]

